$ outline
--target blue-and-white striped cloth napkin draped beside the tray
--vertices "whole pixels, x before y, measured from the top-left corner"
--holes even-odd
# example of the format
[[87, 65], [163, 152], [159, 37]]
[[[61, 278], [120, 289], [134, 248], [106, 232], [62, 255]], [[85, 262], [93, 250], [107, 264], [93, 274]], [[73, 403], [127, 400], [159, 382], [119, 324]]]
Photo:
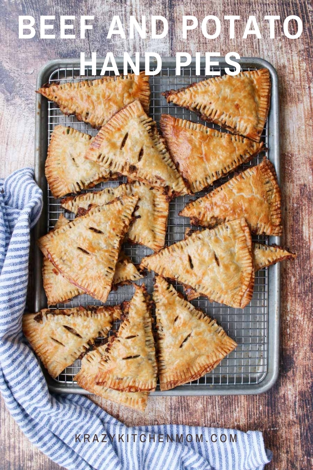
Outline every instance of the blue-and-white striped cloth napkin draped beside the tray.
[[129, 428], [83, 395], [50, 394], [22, 333], [30, 230], [42, 209], [31, 168], [0, 180], [0, 205], [0, 391], [35, 446], [73, 470], [248, 470], [270, 462], [259, 431], [173, 424]]

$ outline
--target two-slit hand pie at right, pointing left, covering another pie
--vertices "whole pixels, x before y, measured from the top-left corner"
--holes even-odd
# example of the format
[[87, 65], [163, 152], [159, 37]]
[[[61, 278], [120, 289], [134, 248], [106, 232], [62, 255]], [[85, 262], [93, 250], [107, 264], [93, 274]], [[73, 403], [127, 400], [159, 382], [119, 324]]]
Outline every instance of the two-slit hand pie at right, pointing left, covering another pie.
[[244, 308], [252, 298], [252, 241], [244, 219], [197, 231], [143, 258], [141, 267], [176, 279], [211, 301], [231, 307]]

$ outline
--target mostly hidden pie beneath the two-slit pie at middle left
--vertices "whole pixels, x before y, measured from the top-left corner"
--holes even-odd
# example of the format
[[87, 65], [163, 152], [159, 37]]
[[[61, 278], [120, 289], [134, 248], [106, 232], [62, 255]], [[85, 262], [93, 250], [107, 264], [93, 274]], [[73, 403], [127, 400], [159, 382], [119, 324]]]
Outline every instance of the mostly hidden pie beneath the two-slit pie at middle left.
[[[68, 224], [63, 214], [56, 221], [54, 230]], [[130, 258], [123, 251], [120, 252], [115, 266], [114, 278], [111, 290], [115, 290], [117, 286], [137, 281], [143, 277], [139, 273], [137, 267], [131, 262]], [[62, 274], [53, 266], [52, 262], [46, 257], [42, 261], [42, 279], [47, 296], [48, 305], [56, 305], [58, 303], [66, 303], [72, 297], [84, 294], [84, 290], [78, 289], [76, 285], [71, 284]]]

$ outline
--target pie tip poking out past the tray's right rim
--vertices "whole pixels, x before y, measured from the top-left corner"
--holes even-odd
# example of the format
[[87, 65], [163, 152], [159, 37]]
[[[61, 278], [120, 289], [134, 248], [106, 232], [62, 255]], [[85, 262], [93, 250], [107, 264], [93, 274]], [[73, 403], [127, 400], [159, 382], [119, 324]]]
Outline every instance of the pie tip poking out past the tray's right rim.
[[297, 255], [284, 250], [280, 246], [263, 245], [262, 243], [252, 243], [254, 270], [259, 271], [264, 267], [271, 266], [284, 259], [295, 259]]

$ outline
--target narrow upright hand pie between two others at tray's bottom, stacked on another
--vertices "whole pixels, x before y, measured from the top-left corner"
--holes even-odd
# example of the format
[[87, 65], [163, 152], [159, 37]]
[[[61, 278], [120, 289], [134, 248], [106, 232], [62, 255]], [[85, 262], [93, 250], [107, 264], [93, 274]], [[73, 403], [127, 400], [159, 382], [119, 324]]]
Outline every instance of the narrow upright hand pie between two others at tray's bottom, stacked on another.
[[134, 287], [129, 312], [100, 361], [95, 382], [123, 392], [148, 392], [155, 390], [157, 376], [150, 301], [144, 286]]

